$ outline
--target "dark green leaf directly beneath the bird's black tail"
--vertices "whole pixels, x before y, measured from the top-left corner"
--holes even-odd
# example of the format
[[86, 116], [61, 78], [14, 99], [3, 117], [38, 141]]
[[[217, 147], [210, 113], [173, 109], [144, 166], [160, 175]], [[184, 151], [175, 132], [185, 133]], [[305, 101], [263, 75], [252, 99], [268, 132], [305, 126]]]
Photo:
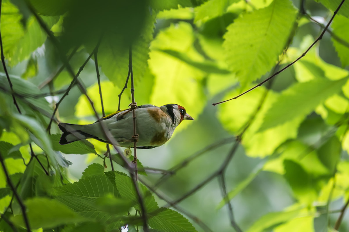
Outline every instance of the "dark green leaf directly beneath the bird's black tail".
[[53, 150], [59, 150], [65, 154], [97, 154], [94, 146], [89, 141], [76, 141], [70, 144], [61, 145], [59, 144], [60, 137], [61, 134], [51, 134], [50, 139]]

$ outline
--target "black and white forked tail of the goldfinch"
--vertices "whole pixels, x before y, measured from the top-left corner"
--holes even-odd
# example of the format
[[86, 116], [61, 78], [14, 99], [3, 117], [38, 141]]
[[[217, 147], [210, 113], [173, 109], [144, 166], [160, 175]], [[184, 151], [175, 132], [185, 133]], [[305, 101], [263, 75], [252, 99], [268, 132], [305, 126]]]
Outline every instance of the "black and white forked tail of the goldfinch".
[[96, 138], [91, 134], [83, 132], [83, 127], [88, 125], [76, 125], [69, 123], [59, 123], [58, 127], [63, 132], [61, 139], [59, 140], [60, 144], [69, 144], [70, 142], [75, 142], [82, 139], [91, 139]]

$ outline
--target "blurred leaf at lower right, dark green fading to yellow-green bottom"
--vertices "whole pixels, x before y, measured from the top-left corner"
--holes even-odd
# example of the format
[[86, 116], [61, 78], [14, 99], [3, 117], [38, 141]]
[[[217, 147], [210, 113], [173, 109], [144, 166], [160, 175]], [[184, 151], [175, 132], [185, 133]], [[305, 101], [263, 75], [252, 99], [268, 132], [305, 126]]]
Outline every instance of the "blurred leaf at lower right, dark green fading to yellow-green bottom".
[[317, 191], [314, 186], [315, 181], [300, 164], [295, 161], [285, 160], [284, 168], [284, 177], [300, 202], [311, 204], [317, 199]]

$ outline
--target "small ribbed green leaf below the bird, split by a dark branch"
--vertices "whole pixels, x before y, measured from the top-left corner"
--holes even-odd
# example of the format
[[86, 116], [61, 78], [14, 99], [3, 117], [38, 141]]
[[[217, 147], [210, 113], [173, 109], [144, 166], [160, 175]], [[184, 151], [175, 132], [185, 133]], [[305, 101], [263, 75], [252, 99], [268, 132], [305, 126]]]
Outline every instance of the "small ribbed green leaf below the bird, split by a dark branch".
[[[135, 208], [138, 210], [141, 210], [141, 207], [139, 205], [138, 195], [136, 193], [132, 179], [121, 172], [115, 172], [114, 175], [115, 175], [116, 187], [120, 195], [122, 196], [122, 198], [125, 198], [133, 202], [133, 204], [135, 205]], [[158, 209], [154, 196], [151, 195], [150, 191], [141, 184], [139, 184], [139, 190], [143, 197], [143, 203], [144, 203], [144, 207], [146, 208], [147, 214]]]

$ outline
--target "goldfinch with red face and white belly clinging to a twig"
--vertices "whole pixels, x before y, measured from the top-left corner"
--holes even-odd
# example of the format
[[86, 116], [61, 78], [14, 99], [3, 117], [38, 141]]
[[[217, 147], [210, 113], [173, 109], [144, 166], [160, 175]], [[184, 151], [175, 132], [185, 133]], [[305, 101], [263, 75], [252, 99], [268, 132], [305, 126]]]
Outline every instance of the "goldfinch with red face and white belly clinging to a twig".
[[[177, 104], [167, 104], [161, 107], [153, 105], [138, 106], [136, 113], [136, 132], [139, 134], [137, 148], [150, 149], [159, 147], [167, 142], [174, 129], [184, 120], [194, 120], [184, 107]], [[97, 122], [88, 125], [59, 123], [63, 132], [60, 144], [82, 139], [97, 139], [108, 142], [101, 123], [109, 129], [112, 136], [122, 147], [133, 147], [133, 112], [131, 109], [117, 111], [107, 115]]]

